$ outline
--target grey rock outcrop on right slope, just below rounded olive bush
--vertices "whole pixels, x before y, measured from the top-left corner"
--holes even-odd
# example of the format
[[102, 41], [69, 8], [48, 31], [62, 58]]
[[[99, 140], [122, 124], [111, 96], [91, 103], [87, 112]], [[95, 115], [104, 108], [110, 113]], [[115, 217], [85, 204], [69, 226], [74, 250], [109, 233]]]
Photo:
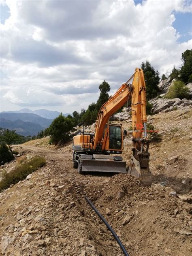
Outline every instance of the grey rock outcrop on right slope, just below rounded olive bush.
[[153, 105], [151, 111], [156, 114], [159, 112], [169, 112], [175, 109], [180, 109], [182, 107], [192, 105], [192, 100], [179, 98], [175, 99], [153, 99], [149, 100], [149, 102]]

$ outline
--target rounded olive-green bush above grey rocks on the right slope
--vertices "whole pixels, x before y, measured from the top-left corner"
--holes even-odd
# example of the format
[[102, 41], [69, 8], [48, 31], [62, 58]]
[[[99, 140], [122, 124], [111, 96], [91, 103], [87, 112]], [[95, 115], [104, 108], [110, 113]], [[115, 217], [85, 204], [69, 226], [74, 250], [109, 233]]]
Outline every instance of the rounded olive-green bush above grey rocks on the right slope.
[[181, 81], [174, 81], [173, 84], [169, 87], [169, 91], [165, 95], [165, 98], [174, 99], [184, 99], [190, 98], [189, 88], [184, 85]]

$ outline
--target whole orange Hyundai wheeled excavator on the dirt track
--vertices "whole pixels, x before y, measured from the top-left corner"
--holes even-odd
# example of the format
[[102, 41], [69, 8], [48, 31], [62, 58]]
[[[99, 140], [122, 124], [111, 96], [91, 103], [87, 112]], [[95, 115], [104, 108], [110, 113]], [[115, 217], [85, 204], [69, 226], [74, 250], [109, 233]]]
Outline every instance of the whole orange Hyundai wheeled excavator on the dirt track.
[[[132, 81], [132, 83], [131, 83]], [[149, 143], [146, 128], [146, 86], [144, 73], [136, 68], [134, 74], [123, 83], [119, 90], [105, 102], [97, 116], [95, 134], [82, 134], [73, 137], [73, 167], [78, 173], [110, 172], [134, 175], [145, 185], [151, 185], [149, 169]], [[123, 161], [124, 128], [109, 122], [110, 117], [122, 106], [131, 102], [132, 113], [132, 156], [128, 172]], [[143, 134], [144, 133], [144, 134]], [[113, 155], [111, 155], [113, 154]]]

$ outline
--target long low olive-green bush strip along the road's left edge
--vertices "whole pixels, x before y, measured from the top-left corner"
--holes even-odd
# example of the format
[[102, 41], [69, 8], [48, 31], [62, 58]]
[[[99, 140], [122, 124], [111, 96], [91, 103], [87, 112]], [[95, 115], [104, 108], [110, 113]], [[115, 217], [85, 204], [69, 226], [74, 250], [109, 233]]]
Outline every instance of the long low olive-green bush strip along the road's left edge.
[[46, 160], [44, 157], [34, 156], [30, 161], [19, 164], [11, 173], [4, 171], [0, 181], [0, 191], [9, 188], [11, 184], [16, 184], [20, 180], [25, 179], [27, 175], [45, 164]]

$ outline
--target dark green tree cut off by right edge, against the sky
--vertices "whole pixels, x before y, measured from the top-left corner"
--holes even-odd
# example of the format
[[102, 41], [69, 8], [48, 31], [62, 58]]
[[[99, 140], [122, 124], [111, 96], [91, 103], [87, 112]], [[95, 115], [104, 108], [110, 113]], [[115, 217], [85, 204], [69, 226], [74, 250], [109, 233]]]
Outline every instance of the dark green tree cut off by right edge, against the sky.
[[182, 53], [183, 66], [180, 71], [180, 79], [183, 83], [192, 82], [192, 50], [186, 50]]

